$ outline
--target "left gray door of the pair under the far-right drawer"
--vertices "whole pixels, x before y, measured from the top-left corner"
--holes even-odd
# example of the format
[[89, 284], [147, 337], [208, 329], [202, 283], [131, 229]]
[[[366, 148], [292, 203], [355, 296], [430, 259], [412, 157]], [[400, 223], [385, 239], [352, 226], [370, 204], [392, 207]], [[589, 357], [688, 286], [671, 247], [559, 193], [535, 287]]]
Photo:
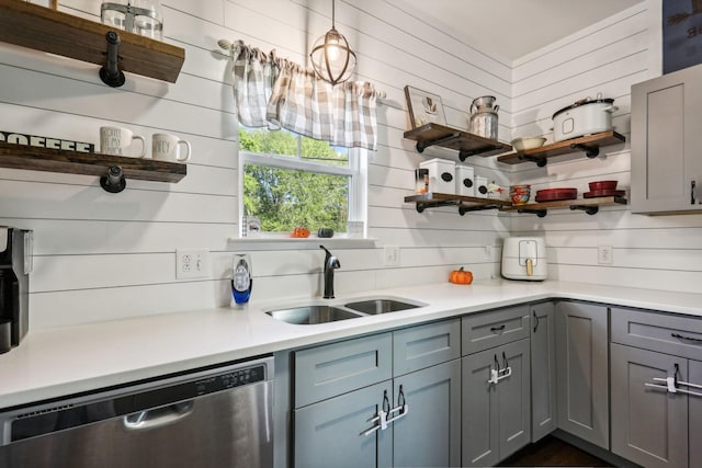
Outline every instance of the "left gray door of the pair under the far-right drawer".
[[688, 397], [645, 386], [672, 376], [676, 364], [687, 378], [687, 359], [614, 343], [611, 350], [612, 452], [647, 468], [687, 467]]

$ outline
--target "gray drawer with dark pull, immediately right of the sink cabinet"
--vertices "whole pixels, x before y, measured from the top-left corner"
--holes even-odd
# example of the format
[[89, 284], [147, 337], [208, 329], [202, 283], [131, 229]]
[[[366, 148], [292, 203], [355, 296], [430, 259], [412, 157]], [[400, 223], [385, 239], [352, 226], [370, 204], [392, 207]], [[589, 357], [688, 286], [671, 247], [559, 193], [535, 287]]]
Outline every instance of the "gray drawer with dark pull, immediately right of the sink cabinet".
[[529, 306], [521, 305], [463, 319], [463, 354], [529, 338]]

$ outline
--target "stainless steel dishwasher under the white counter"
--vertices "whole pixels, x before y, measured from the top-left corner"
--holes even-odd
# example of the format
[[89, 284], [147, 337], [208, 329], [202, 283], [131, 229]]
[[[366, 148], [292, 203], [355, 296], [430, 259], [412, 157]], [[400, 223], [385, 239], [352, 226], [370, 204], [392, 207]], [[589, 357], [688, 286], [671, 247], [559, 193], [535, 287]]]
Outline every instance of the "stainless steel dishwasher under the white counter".
[[271, 467], [273, 357], [0, 413], [0, 467]]

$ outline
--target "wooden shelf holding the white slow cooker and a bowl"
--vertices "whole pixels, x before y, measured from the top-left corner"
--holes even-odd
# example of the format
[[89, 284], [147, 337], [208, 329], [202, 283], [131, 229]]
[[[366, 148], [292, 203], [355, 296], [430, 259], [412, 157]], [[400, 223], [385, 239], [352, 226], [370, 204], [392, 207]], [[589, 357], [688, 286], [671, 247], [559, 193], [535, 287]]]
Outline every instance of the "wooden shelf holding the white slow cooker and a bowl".
[[568, 155], [577, 151], [585, 151], [588, 158], [599, 156], [600, 147], [616, 145], [626, 141], [623, 135], [616, 132], [603, 132], [601, 134], [587, 135], [565, 141], [557, 141], [541, 148], [525, 151], [511, 152], [497, 158], [499, 162], [506, 164], [521, 164], [522, 162], [535, 162], [539, 167], [546, 165], [547, 158]]

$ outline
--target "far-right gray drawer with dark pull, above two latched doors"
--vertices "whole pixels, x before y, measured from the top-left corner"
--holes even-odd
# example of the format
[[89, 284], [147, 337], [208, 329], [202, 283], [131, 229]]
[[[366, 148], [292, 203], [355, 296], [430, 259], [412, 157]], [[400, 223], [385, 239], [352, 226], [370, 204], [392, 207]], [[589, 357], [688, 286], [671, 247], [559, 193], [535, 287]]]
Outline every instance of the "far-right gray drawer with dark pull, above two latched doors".
[[702, 318], [612, 308], [612, 341], [702, 359]]

